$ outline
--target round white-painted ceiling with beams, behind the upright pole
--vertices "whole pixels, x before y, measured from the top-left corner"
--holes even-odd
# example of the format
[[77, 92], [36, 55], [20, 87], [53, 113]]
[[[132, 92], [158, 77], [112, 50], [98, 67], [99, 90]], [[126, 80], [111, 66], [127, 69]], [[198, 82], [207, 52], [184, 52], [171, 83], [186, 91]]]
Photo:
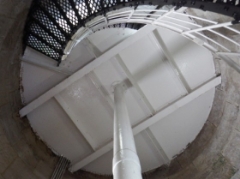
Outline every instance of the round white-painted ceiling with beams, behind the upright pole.
[[[29, 99], [36, 99], [42, 96], [22, 114], [30, 112], [28, 118], [33, 129], [57, 154], [71, 160], [71, 170], [84, 167], [92, 172], [111, 174], [112, 84], [115, 81], [124, 81], [128, 86], [126, 104], [143, 171], [166, 163], [201, 130], [212, 105], [213, 88], [220, 83], [220, 78], [213, 79], [212, 56], [180, 35], [158, 28], [193, 90], [187, 94], [175, 69], [156, 43], [153, 30], [154, 27], [146, 27], [145, 31], [135, 33], [133, 30], [108, 29], [93, 34], [89, 37], [92, 48], [87, 48], [84, 42], [79, 43], [60, 67], [73, 75], [56, 87], [56, 83], [52, 83], [50, 91], [38, 85], [38, 95], [27, 91], [36, 89], [36, 83], [41, 81], [45, 81], [40, 83], [45, 85], [51, 74], [57, 79], [62, 74], [48, 72], [49, 68], [47, 72], [35, 70], [39, 67], [23, 64], [24, 97], [29, 95]], [[100, 53], [104, 54], [89, 63]], [[115, 58], [118, 54], [130, 72], [131, 80]], [[34, 53], [28, 57], [34, 57]], [[29, 72], [34, 74], [32, 81]], [[158, 112], [152, 117], [149, 105]]]

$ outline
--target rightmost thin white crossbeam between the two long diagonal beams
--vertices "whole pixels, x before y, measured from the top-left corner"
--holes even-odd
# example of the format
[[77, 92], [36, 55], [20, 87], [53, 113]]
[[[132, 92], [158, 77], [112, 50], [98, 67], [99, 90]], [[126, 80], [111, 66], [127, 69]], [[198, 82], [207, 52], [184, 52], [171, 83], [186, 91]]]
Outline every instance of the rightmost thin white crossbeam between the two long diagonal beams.
[[162, 49], [162, 52], [164, 53], [164, 55], [166, 56], [166, 58], [168, 59], [168, 61], [170, 62], [170, 64], [172, 65], [173, 69], [174, 69], [174, 72], [176, 73], [177, 77], [180, 79], [180, 81], [182, 82], [183, 86], [185, 87], [186, 91], [188, 93], [190, 93], [191, 91], [191, 88], [190, 86], [188, 85], [188, 82], [187, 80], [184, 78], [181, 70], [179, 69], [178, 65], [176, 64], [173, 56], [171, 55], [171, 53], [169, 52], [165, 42], [163, 41], [161, 35], [159, 34], [159, 32], [157, 30], [154, 30], [153, 31], [153, 34], [154, 34], [154, 37], [152, 40], [155, 41], [156, 39], [156, 43], [157, 46], [159, 47], [158, 44], [160, 44], [160, 49]]

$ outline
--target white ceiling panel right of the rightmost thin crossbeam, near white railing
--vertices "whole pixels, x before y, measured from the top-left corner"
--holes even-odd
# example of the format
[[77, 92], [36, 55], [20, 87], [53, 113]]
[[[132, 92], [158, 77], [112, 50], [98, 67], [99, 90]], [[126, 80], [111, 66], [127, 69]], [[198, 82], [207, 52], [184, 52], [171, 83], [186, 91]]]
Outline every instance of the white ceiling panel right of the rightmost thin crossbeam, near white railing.
[[[169, 34], [166, 29], [158, 28], [158, 32], [191, 89], [195, 89], [215, 76], [212, 70], [214, 64], [208, 60], [212, 58], [210, 51], [199, 48], [194, 43], [188, 43], [184, 37], [179, 37], [176, 43], [177, 34]], [[196, 80], [196, 76], [198, 80]]]

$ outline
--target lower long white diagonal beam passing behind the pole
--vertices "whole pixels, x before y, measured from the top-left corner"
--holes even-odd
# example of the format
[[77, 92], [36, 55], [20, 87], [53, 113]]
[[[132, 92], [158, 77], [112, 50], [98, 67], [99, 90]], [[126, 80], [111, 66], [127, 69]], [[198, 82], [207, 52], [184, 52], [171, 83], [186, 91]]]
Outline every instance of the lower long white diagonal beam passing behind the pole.
[[[156, 122], [160, 121], [161, 119], [165, 118], [169, 114], [177, 111], [179, 108], [183, 107], [184, 105], [188, 104], [189, 102], [193, 101], [194, 99], [198, 98], [202, 94], [206, 93], [207, 91], [211, 90], [212, 88], [216, 87], [221, 83], [221, 77], [215, 77], [212, 80], [206, 82], [199, 88], [195, 89], [191, 93], [189, 93], [187, 96], [180, 98], [176, 102], [164, 107], [162, 110], [160, 110], [157, 114], [154, 116], [144, 120], [142, 123], [138, 124], [133, 128], [133, 134], [136, 135], [140, 133], [141, 131], [147, 129], [148, 127], [154, 125]], [[71, 172], [77, 171], [81, 169], [82, 167], [88, 165], [89, 163], [93, 162], [103, 154], [109, 152], [113, 148], [113, 142], [109, 142], [105, 146], [101, 147], [91, 155], [87, 156], [83, 160], [73, 164], [69, 170]]]

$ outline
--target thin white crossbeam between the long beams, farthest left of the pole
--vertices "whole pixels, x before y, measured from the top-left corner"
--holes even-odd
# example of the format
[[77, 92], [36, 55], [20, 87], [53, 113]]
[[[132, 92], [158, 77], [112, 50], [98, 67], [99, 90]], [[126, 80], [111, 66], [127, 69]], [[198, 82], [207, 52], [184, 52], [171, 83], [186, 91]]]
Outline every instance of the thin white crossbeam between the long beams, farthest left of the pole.
[[98, 145], [96, 144], [94, 139], [89, 135], [87, 129], [81, 124], [81, 121], [79, 120], [79, 116], [76, 116], [76, 114], [72, 111], [72, 109], [69, 108], [67, 102], [61, 97], [61, 95], [56, 95], [55, 99], [59, 103], [59, 105], [62, 107], [62, 109], [66, 112], [66, 114], [69, 116], [69, 118], [72, 120], [72, 122], [75, 124], [75, 126], [78, 128], [78, 130], [86, 139], [86, 141], [91, 146], [91, 148], [95, 151]]

